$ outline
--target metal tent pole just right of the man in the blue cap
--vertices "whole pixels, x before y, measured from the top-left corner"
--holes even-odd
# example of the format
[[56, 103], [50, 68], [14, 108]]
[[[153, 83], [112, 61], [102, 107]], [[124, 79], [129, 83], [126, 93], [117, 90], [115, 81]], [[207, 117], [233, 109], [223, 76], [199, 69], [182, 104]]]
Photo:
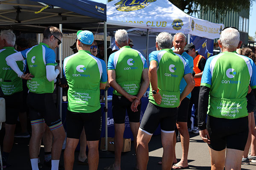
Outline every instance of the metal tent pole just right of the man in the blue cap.
[[[107, 23], [104, 21], [104, 60], [106, 66], [108, 65], [107, 61]], [[105, 91], [105, 150], [108, 150], [108, 91]]]

